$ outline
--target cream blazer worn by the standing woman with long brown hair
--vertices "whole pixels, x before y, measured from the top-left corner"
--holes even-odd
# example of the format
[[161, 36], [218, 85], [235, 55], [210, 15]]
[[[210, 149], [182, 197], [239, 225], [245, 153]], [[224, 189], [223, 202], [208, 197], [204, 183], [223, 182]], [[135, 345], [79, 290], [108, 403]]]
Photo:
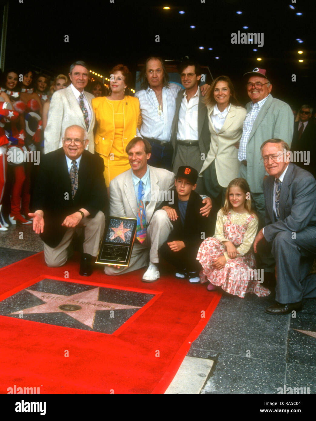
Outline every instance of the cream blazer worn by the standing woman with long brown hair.
[[227, 187], [231, 180], [238, 177], [241, 165], [240, 161], [238, 161], [238, 149], [234, 144], [241, 139], [246, 109], [231, 104], [225, 123], [219, 133], [217, 133], [211, 120], [213, 108], [214, 106], [207, 107], [211, 143], [200, 175], [215, 160], [217, 181], [220, 186]]

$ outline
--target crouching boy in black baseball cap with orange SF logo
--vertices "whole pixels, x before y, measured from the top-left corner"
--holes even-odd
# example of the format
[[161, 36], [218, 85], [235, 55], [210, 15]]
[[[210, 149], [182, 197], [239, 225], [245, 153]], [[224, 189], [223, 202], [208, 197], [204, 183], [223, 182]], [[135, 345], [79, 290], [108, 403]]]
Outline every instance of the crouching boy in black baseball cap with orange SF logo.
[[189, 165], [179, 167], [176, 191], [171, 190], [173, 203], [165, 202], [162, 207], [171, 220], [173, 230], [159, 249], [161, 257], [176, 267], [176, 277], [188, 277], [190, 282], [200, 282], [202, 266], [196, 256], [201, 242], [208, 237], [207, 218], [200, 213], [202, 198], [194, 192], [197, 179], [195, 168]]

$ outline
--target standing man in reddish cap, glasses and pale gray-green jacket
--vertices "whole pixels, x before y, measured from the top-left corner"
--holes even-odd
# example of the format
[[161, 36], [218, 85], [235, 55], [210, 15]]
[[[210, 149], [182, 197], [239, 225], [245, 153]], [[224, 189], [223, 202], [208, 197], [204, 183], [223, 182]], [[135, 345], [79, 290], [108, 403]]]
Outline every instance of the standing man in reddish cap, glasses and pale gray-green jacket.
[[272, 85], [265, 69], [256, 67], [244, 76], [248, 77], [246, 87], [251, 102], [246, 105], [247, 115], [238, 150], [238, 160], [242, 164], [239, 177], [248, 181], [262, 226], [265, 218], [263, 178], [266, 173], [260, 146], [271, 138], [282, 139], [291, 146], [294, 117], [288, 104], [271, 95]]

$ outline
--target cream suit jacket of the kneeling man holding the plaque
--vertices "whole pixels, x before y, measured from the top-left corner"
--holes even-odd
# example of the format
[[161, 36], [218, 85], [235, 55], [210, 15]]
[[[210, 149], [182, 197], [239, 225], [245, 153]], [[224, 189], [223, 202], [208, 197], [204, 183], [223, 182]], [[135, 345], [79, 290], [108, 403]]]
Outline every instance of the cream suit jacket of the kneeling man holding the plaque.
[[[155, 210], [165, 200], [165, 192], [174, 186], [174, 173], [163, 168], [148, 165], [150, 174], [151, 200], [145, 200], [147, 224]], [[137, 198], [135, 195], [131, 169], [118, 175], [110, 182], [110, 215], [137, 218]]]

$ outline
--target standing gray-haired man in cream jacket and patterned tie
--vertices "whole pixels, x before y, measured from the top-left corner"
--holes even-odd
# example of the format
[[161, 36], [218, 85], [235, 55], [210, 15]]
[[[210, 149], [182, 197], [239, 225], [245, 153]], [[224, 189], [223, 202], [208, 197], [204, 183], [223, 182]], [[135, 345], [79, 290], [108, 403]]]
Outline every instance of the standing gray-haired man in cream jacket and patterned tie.
[[85, 92], [89, 70], [84, 61], [75, 61], [70, 66], [71, 85], [56, 91], [51, 98], [48, 122], [44, 131], [44, 152], [62, 147], [62, 136], [67, 127], [78, 125], [88, 132], [88, 151], [94, 153], [94, 112], [91, 100], [94, 96]]

